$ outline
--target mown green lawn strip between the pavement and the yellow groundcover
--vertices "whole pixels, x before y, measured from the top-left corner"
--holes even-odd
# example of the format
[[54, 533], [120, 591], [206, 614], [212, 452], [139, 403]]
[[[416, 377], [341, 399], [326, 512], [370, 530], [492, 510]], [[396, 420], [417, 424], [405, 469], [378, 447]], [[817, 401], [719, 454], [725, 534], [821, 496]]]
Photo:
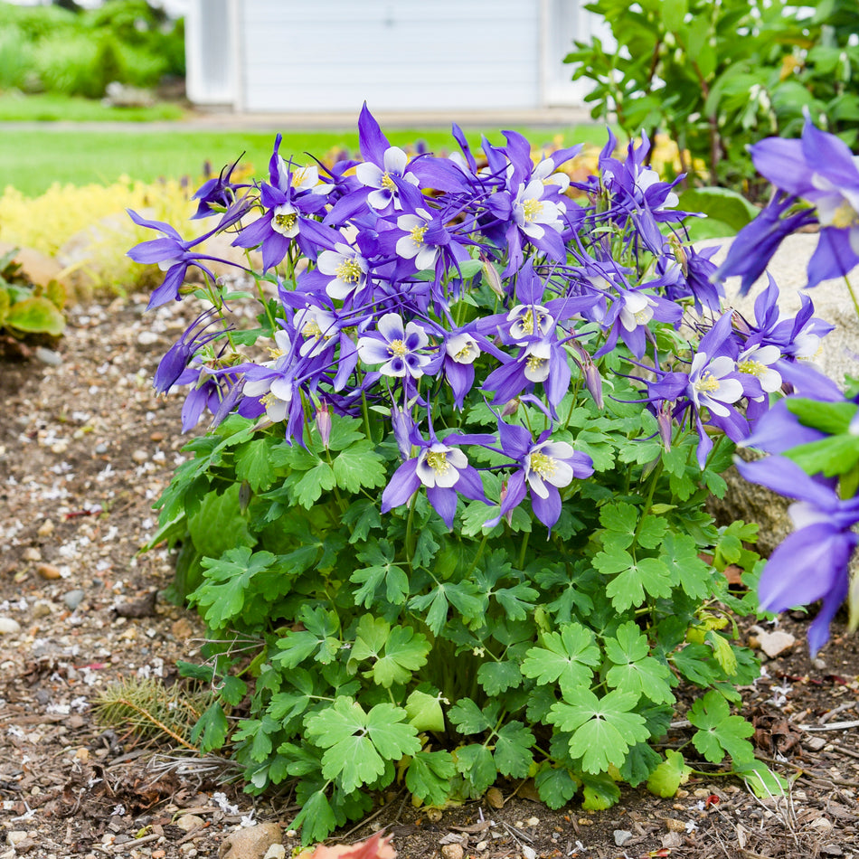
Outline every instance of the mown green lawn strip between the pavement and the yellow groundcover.
[[[578, 126], [539, 130], [519, 128], [535, 146], [562, 136], [563, 143], [590, 142], [602, 145], [605, 128]], [[496, 144], [504, 138], [496, 129], [486, 129], [486, 136]], [[422, 140], [430, 150], [440, 152], [456, 148], [446, 130], [415, 129], [394, 131], [388, 135], [393, 146], [407, 146]], [[477, 148], [478, 132], [467, 134]], [[51, 184], [110, 184], [119, 176], [152, 182], [160, 177], [189, 176], [196, 183], [208, 162], [217, 173], [222, 165], [234, 161], [242, 152], [242, 163], [252, 166], [253, 175], [268, 172], [274, 134], [251, 132], [203, 131], [0, 131], [0, 194], [13, 185], [22, 194], [42, 194]], [[280, 154], [297, 156], [307, 162], [303, 153], [325, 156], [333, 149], [355, 151], [357, 131], [294, 132], [284, 134]]]

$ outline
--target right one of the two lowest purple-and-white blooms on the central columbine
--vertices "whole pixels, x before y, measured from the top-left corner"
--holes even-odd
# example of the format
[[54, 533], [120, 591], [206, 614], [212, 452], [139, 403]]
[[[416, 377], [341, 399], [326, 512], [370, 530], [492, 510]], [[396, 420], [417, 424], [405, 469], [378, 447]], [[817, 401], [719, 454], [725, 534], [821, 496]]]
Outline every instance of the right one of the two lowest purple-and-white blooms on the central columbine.
[[577, 477], [590, 477], [593, 461], [566, 441], [552, 441], [549, 438], [551, 430], [543, 432], [536, 444], [531, 433], [516, 424], [501, 422], [498, 430], [502, 449], [516, 461], [519, 470], [507, 483], [501, 509], [495, 518], [486, 522], [486, 526], [498, 524], [503, 516], [522, 503], [530, 491], [534, 514], [551, 529], [561, 515], [559, 489], [569, 486]]

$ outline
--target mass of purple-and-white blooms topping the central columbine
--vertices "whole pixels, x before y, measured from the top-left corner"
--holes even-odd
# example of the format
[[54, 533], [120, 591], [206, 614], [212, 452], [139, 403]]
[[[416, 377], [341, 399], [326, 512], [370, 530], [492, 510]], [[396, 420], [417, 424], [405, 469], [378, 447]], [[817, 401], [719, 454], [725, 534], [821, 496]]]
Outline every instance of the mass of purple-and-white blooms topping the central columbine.
[[[780, 320], [773, 286], [754, 320], [721, 313], [715, 267], [684, 242], [675, 183], [645, 165], [646, 138], [621, 159], [609, 136], [599, 175], [571, 189], [561, 168], [579, 147], [534, 160], [508, 131], [478, 161], [454, 127], [458, 152], [409, 156], [366, 108], [359, 135], [363, 161], [330, 168], [285, 161], [278, 137], [268, 181], [227, 171], [198, 192], [198, 216], [219, 218], [200, 240], [135, 216], [163, 233], [130, 251], [167, 272], [152, 305], [182, 297], [195, 269], [216, 307], [156, 375], [162, 391], [190, 385], [185, 429], [204, 409], [215, 422], [238, 411], [301, 445], [314, 416], [319, 428], [331, 412], [359, 417], [399, 452], [382, 512], [425, 492], [450, 527], [464, 497], [492, 527], [530, 497], [551, 529], [594, 468], [571, 431], [581, 392], [598, 409], [608, 386], [640, 399], [666, 448], [697, 432], [703, 467], [712, 432], [745, 439], [772, 392], [817, 383], [802, 359], [827, 328], [810, 303]], [[253, 337], [214, 327], [229, 308], [197, 249], [217, 232], [260, 252], [268, 360], [240, 351]]]

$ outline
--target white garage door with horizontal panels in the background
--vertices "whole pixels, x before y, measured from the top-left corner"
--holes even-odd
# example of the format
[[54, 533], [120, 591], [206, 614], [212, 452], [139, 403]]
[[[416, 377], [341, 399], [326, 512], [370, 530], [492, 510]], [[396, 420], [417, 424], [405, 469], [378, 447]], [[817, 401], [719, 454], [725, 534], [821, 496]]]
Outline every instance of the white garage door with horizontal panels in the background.
[[[535, 108], [541, 0], [238, 0], [241, 109]], [[544, 21], [544, 16], [543, 16]]]

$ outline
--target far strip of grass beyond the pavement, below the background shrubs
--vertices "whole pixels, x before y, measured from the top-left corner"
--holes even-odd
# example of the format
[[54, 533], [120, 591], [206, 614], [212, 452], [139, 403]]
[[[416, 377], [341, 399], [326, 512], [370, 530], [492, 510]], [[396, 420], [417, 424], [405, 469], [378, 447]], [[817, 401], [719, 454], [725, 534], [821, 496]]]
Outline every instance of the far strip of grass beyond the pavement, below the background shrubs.
[[183, 116], [182, 108], [167, 102], [151, 108], [109, 108], [98, 100], [79, 96], [0, 92], [0, 119], [5, 122], [154, 122]]

